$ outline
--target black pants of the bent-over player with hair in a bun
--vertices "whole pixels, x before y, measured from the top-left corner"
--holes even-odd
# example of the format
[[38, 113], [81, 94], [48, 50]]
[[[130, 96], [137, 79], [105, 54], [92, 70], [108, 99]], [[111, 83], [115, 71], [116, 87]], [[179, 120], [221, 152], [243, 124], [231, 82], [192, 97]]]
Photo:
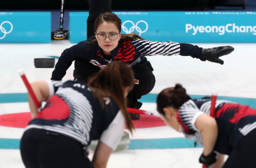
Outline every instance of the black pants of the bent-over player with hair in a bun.
[[256, 129], [249, 132], [234, 147], [222, 168], [256, 167]]

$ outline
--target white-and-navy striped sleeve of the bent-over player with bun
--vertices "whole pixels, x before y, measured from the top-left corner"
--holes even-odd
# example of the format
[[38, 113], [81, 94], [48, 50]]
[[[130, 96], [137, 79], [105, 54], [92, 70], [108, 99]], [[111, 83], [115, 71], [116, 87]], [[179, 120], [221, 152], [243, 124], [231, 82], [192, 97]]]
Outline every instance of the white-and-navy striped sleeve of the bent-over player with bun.
[[177, 119], [186, 134], [194, 134], [198, 129], [195, 126], [197, 118], [204, 114], [193, 100], [185, 102], [177, 112]]

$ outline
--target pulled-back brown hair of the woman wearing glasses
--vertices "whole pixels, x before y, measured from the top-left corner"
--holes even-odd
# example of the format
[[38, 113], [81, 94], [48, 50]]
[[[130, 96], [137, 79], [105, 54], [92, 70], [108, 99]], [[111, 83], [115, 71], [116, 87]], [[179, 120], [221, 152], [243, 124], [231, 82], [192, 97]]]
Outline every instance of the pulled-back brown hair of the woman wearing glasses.
[[[118, 31], [121, 32], [122, 21], [121, 21], [121, 19], [117, 15], [115, 15], [113, 13], [103, 13], [103, 14], [100, 14], [96, 18], [95, 23], [94, 23], [94, 31], [95, 32], [97, 31], [99, 25], [101, 23], [103, 23], [103, 22], [112, 22], [112, 23], [114, 23], [116, 25]], [[132, 39], [145, 40], [142, 37], [140, 37], [137, 33], [121, 34], [120, 45], [121, 45], [123, 53], [124, 53], [124, 43], [127, 45], [126, 41], [127, 40], [132, 40]], [[93, 40], [93, 41], [91, 41], [91, 43], [97, 43], [97, 40]]]

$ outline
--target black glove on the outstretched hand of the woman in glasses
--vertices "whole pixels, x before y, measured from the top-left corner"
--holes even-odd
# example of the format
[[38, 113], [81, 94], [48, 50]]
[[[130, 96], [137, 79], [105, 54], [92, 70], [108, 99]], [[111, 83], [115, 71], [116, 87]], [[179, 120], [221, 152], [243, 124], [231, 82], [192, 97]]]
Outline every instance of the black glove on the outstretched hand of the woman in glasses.
[[211, 49], [202, 49], [202, 56], [200, 60], [208, 60], [210, 62], [215, 62], [223, 65], [224, 61], [219, 59], [219, 57], [223, 55], [228, 55], [232, 51], [234, 51], [234, 48], [231, 46], [220, 46]]

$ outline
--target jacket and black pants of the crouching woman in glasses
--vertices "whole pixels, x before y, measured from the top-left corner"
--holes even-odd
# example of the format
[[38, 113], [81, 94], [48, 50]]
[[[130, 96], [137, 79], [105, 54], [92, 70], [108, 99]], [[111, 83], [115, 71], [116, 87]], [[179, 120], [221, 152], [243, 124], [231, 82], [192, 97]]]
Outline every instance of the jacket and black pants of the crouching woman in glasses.
[[80, 75], [77, 75], [74, 71], [74, 77], [78, 76], [84, 81], [87, 81], [88, 76], [98, 72], [111, 61], [123, 61], [132, 67], [136, 79], [134, 80], [134, 89], [127, 96], [130, 100], [129, 107], [132, 108], [140, 108], [142, 104], [138, 102], [138, 99], [142, 95], [148, 94], [155, 86], [155, 76], [152, 73], [154, 69], [145, 56], [183, 55], [200, 59], [202, 54], [202, 48], [191, 44], [133, 39], [122, 44], [124, 52], [119, 42], [117, 47], [111, 51], [111, 58], [106, 59], [98, 43], [88, 43], [93, 39], [95, 38], [79, 42], [64, 50], [55, 66], [51, 79], [61, 80], [74, 60], [75, 70]]

